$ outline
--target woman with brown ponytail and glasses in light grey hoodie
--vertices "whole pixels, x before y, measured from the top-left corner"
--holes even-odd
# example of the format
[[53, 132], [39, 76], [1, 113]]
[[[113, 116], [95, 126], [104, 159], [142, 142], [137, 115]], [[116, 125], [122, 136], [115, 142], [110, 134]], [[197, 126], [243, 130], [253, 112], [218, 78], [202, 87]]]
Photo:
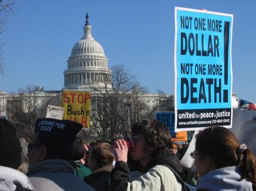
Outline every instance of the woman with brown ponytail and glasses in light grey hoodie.
[[256, 158], [228, 129], [200, 131], [190, 155], [199, 175], [197, 190], [256, 190]]

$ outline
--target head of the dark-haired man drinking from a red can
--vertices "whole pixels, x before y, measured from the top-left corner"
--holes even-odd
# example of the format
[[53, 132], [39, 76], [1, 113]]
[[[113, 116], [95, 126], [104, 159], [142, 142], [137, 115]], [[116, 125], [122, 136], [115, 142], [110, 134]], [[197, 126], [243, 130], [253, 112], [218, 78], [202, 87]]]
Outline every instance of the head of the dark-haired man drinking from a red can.
[[131, 137], [135, 150], [131, 153], [134, 160], [147, 163], [163, 148], [172, 146], [170, 132], [166, 126], [157, 120], [143, 120], [132, 127]]

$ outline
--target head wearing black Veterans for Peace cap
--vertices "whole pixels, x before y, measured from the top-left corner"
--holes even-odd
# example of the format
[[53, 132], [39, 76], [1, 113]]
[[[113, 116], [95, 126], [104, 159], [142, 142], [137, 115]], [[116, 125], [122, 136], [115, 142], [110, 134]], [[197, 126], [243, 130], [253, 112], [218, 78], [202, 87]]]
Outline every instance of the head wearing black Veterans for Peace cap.
[[73, 141], [82, 125], [68, 120], [38, 119], [34, 135], [29, 143], [29, 163], [41, 160], [73, 160]]

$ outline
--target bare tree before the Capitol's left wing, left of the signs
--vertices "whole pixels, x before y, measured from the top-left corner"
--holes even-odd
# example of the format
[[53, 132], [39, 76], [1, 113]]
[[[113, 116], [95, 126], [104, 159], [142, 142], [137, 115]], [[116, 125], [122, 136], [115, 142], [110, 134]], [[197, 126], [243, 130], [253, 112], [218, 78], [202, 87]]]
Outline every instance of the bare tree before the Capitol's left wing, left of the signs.
[[58, 97], [58, 94], [33, 91], [32, 86], [12, 92], [7, 115], [17, 125], [20, 136], [31, 137], [36, 120], [46, 116], [47, 106]]

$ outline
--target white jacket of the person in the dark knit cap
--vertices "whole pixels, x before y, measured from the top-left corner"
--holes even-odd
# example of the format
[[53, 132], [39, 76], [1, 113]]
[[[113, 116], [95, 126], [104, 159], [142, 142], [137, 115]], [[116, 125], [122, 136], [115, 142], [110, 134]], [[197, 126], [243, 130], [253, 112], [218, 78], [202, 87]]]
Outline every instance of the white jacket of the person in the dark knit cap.
[[0, 190], [34, 190], [29, 178], [13, 168], [0, 166]]

